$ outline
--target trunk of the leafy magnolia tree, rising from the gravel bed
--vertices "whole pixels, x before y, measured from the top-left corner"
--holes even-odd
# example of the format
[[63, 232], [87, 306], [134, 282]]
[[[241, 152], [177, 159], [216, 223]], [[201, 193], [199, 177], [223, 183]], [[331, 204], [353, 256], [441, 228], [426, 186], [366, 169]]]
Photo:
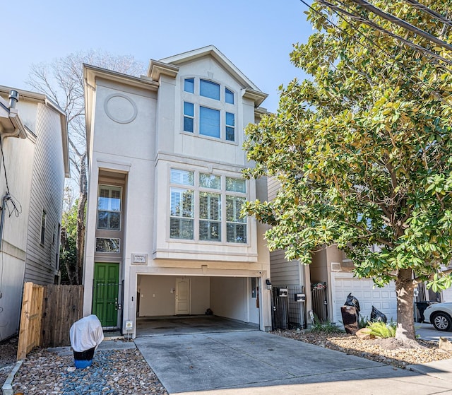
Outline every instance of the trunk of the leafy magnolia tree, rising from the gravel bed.
[[420, 347], [416, 341], [413, 319], [414, 283], [411, 269], [399, 269], [396, 280], [397, 329], [396, 339], [406, 346]]

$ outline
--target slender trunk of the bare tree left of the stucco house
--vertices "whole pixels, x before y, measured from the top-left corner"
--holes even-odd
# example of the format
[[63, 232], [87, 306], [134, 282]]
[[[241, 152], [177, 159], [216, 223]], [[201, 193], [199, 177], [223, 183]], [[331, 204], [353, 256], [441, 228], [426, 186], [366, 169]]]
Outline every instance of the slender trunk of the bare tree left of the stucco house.
[[80, 195], [77, 206], [77, 281], [83, 283], [83, 253], [85, 251], [85, 205], [88, 194], [88, 180], [86, 179], [86, 153], [81, 155], [80, 165]]

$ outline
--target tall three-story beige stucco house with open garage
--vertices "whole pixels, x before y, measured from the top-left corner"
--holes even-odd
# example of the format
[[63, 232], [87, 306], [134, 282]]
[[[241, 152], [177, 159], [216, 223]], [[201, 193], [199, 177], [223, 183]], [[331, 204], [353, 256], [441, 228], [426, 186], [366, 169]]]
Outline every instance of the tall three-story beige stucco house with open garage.
[[213, 46], [133, 77], [85, 65], [89, 194], [84, 315], [136, 336], [136, 319], [205, 314], [271, 326], [266, 199], [245, 180], [244, 127], [266, 98]]

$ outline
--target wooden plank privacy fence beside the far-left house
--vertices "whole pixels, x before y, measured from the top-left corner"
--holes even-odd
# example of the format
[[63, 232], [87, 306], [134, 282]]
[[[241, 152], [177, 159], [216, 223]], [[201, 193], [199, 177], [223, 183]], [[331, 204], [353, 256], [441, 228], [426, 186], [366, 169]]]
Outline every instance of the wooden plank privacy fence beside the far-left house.
[[82, 318], [83, 285], [25, 283], [17, 359], [35, 346], [69, 346], [69, 329]]

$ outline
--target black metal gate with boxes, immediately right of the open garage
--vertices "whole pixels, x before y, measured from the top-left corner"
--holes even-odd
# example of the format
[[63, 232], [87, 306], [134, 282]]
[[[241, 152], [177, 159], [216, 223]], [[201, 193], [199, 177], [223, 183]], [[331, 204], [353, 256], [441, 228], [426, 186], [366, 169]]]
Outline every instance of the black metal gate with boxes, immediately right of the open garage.
[[272, 328], [306, 328], [306, 299], [304, 286], [273, 287]]

